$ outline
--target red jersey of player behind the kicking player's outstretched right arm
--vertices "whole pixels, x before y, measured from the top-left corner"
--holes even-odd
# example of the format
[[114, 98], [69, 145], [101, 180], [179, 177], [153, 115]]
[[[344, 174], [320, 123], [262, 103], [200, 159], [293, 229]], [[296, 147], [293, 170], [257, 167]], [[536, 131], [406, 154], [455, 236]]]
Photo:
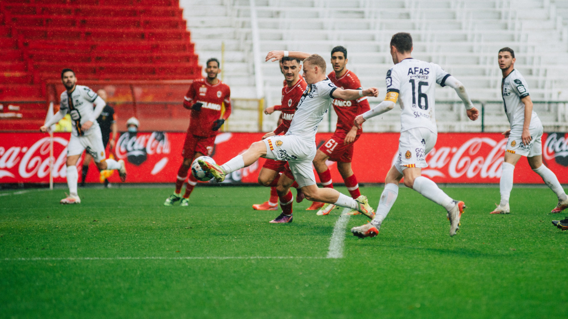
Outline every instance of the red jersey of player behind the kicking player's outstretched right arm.
[[[353, 72], [347, 70], [343, 77], [339, 79], [335, 78], [335, 72], [331, 72], [327, 75], [331, 82], [335, 84], [337, 87], [340, 87], [343, 90], [361, 90], [361, 82], [357, 75]], [[342, 129], [344, 131], [350, 131], [353, 127], [353, 120], [355, 116], [359, 114], [363, 114], [366, 111], [370, 110], [369, 101], [367, 100], [367, 96], [363, 96], [362, 98], [358, 98], [356, 100], [346, 101], [342, 99], [333, 99], [333, 108], [337, 114], [337, 128]], [[361, 134], [362, 130], [359, 129], [357, 134]]]

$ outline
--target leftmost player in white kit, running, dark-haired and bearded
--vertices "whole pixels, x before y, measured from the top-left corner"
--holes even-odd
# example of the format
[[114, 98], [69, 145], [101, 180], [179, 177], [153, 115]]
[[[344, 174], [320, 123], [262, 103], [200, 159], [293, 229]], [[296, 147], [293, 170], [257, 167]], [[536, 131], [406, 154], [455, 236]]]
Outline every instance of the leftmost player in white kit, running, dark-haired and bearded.
[[[101, 128], [96, 121], [101, 115], [106, 102], [94, 93], [89, 87], [77, 85], [77, 78], [72, 69], [63, 69], [61, 71], [61, 82], [65, 86], [66, 91], [61, 93], [59, 112], [55, 114], [47, 123], [40, 127], [41, 132], [47, 132], [47, 129], [59, 122], [65, 114], [69, 113], [73, 123], [73, 130], [67, 144], [67, 186], [69, 186], [69, 196], [60, 201], [61, 204], [79, 204], [81, 199], [77, 194], [77, 161], [83, 150], [89, 153], [101, 170], [118, 170], [121, 181], [126, 181], [126, 167], [124, 161], [120, 159], [118, 162], [114, 159], [105, 159], [105, 146]], [[93, 103], [95, 108], [93, 109]]]

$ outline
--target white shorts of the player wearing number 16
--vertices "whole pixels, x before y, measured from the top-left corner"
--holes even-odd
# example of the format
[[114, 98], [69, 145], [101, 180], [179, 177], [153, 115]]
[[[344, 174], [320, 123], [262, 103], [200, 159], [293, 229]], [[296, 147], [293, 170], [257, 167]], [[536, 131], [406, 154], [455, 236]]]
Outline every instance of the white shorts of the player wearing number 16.
[[396, 169], [402, 171], [408, 167], [428, 167], [426, 154], [436, 145], [437, 133], [425, 127], [415, 127], [400, 132], [398, 141], [398, 158], [394, 163]]

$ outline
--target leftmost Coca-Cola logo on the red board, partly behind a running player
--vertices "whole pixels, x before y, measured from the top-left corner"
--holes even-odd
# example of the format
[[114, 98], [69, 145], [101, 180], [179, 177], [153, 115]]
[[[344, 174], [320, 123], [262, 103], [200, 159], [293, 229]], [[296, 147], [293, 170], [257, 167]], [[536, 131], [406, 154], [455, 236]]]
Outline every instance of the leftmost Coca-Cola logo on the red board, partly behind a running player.
[[[8, 149], [0, 146], [0, 179], [3, 177], [15, 178], [9, 170], [18, 165], [18, 174], [21, 178], [31, 178], [36, 175], [44, 178], [49, 175], [49, 137], [40, 138], [29, 148], [27, 146], [11, 146]], [[67, 144], [65, 138], [54, 137], [54, 152], [61, 148], [57, 154], [57, 159], [53, 163], [53, 178], [66, 177], [67, 168], [65, 165], [67, 157]], [[61, 146], [56, 147], [59, 144]], [[54, 158], [56, 154], [54, 153]], [[81, 161], [77, 162], [80, 165]]]

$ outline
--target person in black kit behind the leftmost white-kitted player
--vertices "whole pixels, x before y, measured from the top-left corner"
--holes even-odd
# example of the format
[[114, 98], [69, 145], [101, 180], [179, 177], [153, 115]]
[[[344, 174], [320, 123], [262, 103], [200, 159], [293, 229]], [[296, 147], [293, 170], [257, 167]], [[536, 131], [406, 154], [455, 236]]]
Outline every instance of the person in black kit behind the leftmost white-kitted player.
[[[106, 91], [101, 89], [97, 91], [98, 96], [100, 96], [106, 103], [107, 95]], [[101, 128], [101, 135], [103, 137], [103, 146], [106, 149], [108, 142], [110, 141], [110, 147], [108, 148], [109, 153], [112, 153], [112, 149], [116, 144], [116, 136], [118, 135], [118, 128], [116, 128], [116, 116], [114, 113], [114, 108], [105, 104], [105, 107], [101, 111], [101, 115], [97, 117], [97, 122], [99, 123], [99, 127]], [[110, 133], [112, 131], [112, 138], [110, 138]], [[110, 140], [109, 140], [110, 138]], [[89, 163], [93, 157], [91, 154], [86, 153], [85, 158], [83, 159], [83, 169], [81, 173], [81, 184], [80, 186], [85, 186], [85, 178], [87, 177], [87, 173], [89, 173]], [[103, 175], [101, 175], [103, 176]], [[105, 178], [105, 187], [108, 187], [108, 179]]]

